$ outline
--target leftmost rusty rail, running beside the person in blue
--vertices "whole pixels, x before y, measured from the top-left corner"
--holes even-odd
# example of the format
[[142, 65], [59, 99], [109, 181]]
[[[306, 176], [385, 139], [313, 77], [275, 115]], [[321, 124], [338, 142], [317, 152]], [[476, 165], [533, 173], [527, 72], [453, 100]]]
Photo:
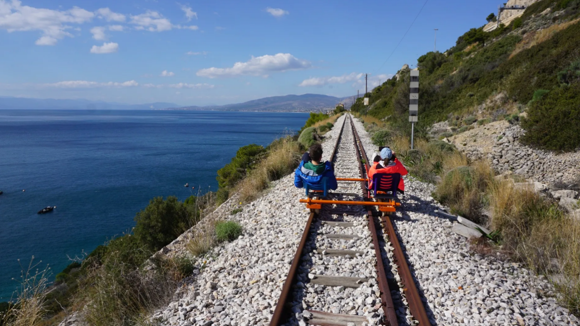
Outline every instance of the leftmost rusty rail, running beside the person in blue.
[[[340, 133], [338, 137], [336, 137], [336, 143], [334, 149], [332, 150], [332, 156], [330, 160], [333, 161], [336, 155], [336, 150], [338, 148], [338, 144], [340, 142], [340, 137], [342, 137], [342, 131], [345, 129], [346, 124], [343, 121], [342, 126], [340, 127]], [[280, 293], [280, 298], [278, 298], [278, 302], [276, 303], [276, 309], [274, 309], [274, 314], [270, 320], [270, 326], [280, 326], [285, 323], [288, 319], [288, 313], [291, 311], [292, 307], [289, 307], [289, 300], [291, 299], [291, 291], [292, 287], [296, 281], [296, 272], [298, 271], [298, 266], [300, 265], [300, 260], [302, 259], [302, 251], [306, 245], [306, 241], [308, 240], [308, 236], [310, 233], [310, 227], [312, 226], [312, 221], [316, 217], [316, 212], [314, 210], [310, 210], [310, 216], [306, 222], [306, 227], [304, 232], [302, 233], [302, 238], [300, 239], [300, 243], [298, 244], [298, 248], [296, 249], [296, 253], [294, 255], [294, 259], [292, 260], [292, 265], [290, 266], [290, 270], [288, 271], [288, 276], [284, 281], [284, 285], [282, 286], [282, 292]]]

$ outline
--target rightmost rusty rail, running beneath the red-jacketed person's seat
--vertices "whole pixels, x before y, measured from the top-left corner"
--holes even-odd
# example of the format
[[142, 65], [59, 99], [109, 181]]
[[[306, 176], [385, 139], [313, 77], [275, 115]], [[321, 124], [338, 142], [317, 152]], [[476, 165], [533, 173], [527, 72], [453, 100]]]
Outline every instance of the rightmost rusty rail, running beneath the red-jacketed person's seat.
[[[351, 124], [353, 124], [352, 120]], [[368, 168], [367, 154], [365, 153], [364, 146], [362, 146], [360, 137], [358, 137], [358, 132], [356, 131], [356, 128], [354, 128], [354, 124], [353, 124], [353, 133], [355, 135], [355, 139], [358, 140], [358, 143], [360, 144], [362, 158], [364, 158], [364, 160], [367, 162]], [[404, 285], [403, 292], [407, 296], [407, 302], [409, 305], [409, 310], [411, 311], [411, 315], [415, 318], [416, 321], [419, 322], [418, 326], [431, 325], [429, 317], [427, 317], [425, 306], [423, 305], [421, 296], [419, 295], [419, 291], [415, 285], [415, 280], [411, 274], [409, 265], [407, 264], [407, 258], [405, 258], [403, 248], [401, 248], [401, 244], [399, 243], [397, 234], [395, 233], [393, 222], [391, 221], [389, 216], [383, 216], [382, 220], [385, 224], [385, 233], [387, 234], [387, 236], [389, 236], [389, 240], [394, 248], [394, 263], [397, 265], [397, 271], [401, 276], [401, 281], [403, 282]]]

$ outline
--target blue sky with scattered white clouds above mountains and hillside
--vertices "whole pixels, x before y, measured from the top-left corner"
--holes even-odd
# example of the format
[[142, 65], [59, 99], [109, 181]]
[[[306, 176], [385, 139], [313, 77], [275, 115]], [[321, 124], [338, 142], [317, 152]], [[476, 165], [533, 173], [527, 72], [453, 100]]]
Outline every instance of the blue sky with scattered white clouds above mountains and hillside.
[[[501, 1], [0, 0], [0, 96], [181, 106], [364, 93]], [[415, 20], [416, 18], [416, 20]], [[415, 20], [415, 21], [414, 21]]]

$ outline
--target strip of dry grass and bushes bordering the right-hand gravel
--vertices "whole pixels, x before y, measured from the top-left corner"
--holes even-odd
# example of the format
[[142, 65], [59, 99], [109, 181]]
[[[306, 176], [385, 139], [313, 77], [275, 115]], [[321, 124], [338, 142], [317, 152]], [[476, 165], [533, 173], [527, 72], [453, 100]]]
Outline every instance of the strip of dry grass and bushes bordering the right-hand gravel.
[[449, 169], [433, 196], [452, 212], [488, 226], [489, 243], [479, 246], [546, 275], [561, 305], [580, 316], [580, 220], [533, 185], [517, 181], [494, 176], [485, 162], [470, 162]]

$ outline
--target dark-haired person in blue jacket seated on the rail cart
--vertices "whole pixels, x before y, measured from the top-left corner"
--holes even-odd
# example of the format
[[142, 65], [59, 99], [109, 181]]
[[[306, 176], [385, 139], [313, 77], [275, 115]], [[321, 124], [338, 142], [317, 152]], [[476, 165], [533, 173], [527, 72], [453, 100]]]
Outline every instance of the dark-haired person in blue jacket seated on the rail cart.
[[322, 146], [314, 144], [308, 150], [310, 160], [305, 154], [300, 161], [300, 165], [296, 168], [294, 175], [294, 186], [296, 188], [303, 188], [304, 183], [310, 186], [316, 186], [322, 182], [322, 178], [327, 178], [327, 189], [336, 190], [338, 184], [336, 183], [336, 176], [334, 175], [334, 168], [332, 162], [322, 161]]

